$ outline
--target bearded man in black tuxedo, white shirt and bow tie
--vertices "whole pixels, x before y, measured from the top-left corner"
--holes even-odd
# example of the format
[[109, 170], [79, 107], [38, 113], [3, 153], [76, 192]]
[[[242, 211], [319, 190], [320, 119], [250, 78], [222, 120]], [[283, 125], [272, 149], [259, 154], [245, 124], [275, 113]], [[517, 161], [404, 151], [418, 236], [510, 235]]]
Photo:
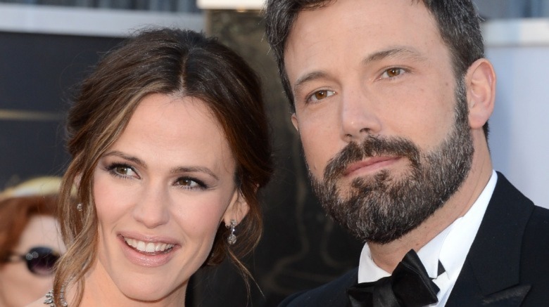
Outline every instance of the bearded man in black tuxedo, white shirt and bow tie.
[[549, 210], [493, 171], [471, 1], [268, 0], [265, 16], [313, 190], [365, 242], [357, 269], [282, 306], [548, 306]]

